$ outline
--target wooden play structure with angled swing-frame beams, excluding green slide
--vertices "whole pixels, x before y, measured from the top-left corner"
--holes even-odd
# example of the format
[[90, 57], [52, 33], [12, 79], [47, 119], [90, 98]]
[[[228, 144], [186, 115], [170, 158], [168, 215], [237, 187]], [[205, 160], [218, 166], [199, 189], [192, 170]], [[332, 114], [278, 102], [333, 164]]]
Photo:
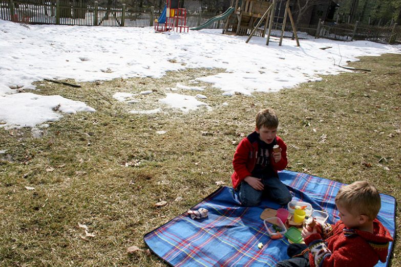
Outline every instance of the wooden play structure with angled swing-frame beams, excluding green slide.
[[[282, 6], [285, 3], [284, 14]], [[297, 46], [300, 46], [297, 29], [294, 25], [291, 10], [289, 7], [290, 0], [231, 0], [231, 7], [234, 7], [234, 12], [227, 17], [223, 33], [248, 35], [246, 42], [249, 42], [252, 36], [265, 37], [267, 34], [266, 46], [269, 45], [270, 34], [273, 23], [283, 19], [281, 29], [280, 43], [281, 46], [287, 23], [287, 16], [291, 21], [292, 32], [294, 39], [297, 41]], [[277, 7], [280, 7], [278, 9]]]

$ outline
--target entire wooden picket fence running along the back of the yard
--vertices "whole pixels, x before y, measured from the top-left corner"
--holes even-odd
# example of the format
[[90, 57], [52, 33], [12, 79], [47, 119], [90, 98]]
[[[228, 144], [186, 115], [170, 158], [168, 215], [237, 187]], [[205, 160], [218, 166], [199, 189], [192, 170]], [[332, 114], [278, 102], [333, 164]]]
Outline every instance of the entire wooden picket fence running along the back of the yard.
[[[80, 26], [150, 27], [161, 10], [126, 8], [125, 4], [113, 7], [84, 6], [82, 0], [0, 0], [0, 19], [27, 24], [56, 24]], [[196, 27], [215, 16], [215, 13], [187, 11], [187, 26]], [[262, 36], [264, 26], [256, 36]], [[224, 28], [224, 20], [218, 20], [208, 28]], [[272, 36], [281, 35], [282, 24], [275, 23]], [[299, 25], [297, 35], [300, 39], [327, 38], [333, 40], [369, 40], [380, 43], [401, 43], [401, 27], [371, 25], [334, 24], [319, 21], [317, 25]], [[284, 37], [293, 38], [289, 21], [285, 26]]]

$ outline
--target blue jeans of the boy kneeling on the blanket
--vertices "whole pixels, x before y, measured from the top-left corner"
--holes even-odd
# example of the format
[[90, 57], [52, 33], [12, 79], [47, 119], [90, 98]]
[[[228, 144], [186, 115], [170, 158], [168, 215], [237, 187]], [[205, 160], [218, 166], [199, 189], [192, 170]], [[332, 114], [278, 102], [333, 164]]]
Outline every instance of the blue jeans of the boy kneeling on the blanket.
[[260, 175], [258, 178], [264, 185], [262, 191], [255, 190], [245, 181], [241, 182], [238, 195], [243, 206], [258, 206], [264, 194], [279, 205], [287, 205], [291, 201], [290, 192], [278, 177]]

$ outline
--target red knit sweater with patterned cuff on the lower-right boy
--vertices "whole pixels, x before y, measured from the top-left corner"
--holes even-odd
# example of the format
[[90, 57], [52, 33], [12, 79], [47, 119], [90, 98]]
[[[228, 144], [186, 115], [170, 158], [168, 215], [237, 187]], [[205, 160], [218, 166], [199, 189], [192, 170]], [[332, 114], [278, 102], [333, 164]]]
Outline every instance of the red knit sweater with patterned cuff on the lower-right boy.
[[311, 267], [370, 267], [379, 260], [386, 262], [393, 239], [378, 219], [373, 220], [373, 234], [346, 228], [342, 221], [323, 225], [322, 229], [323, 236], [316, 233], [304, 239]]

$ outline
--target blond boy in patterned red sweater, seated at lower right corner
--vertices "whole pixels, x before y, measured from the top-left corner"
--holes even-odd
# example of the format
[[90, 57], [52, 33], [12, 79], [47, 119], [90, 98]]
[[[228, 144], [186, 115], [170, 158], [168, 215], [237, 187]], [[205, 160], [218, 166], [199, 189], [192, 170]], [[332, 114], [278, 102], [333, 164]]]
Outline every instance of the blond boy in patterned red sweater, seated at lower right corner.
[[292, 258], [277, 266], [369, 267], [386, 262], [393, 239], [376, 218], [381, 208], [376, 188], [366, 181], [343, 186], [335, 205], [340, 220], [335, 225], [316, 222], [313, 228], [304, 227], [305, 244], [291, 244], [287, 254]]

